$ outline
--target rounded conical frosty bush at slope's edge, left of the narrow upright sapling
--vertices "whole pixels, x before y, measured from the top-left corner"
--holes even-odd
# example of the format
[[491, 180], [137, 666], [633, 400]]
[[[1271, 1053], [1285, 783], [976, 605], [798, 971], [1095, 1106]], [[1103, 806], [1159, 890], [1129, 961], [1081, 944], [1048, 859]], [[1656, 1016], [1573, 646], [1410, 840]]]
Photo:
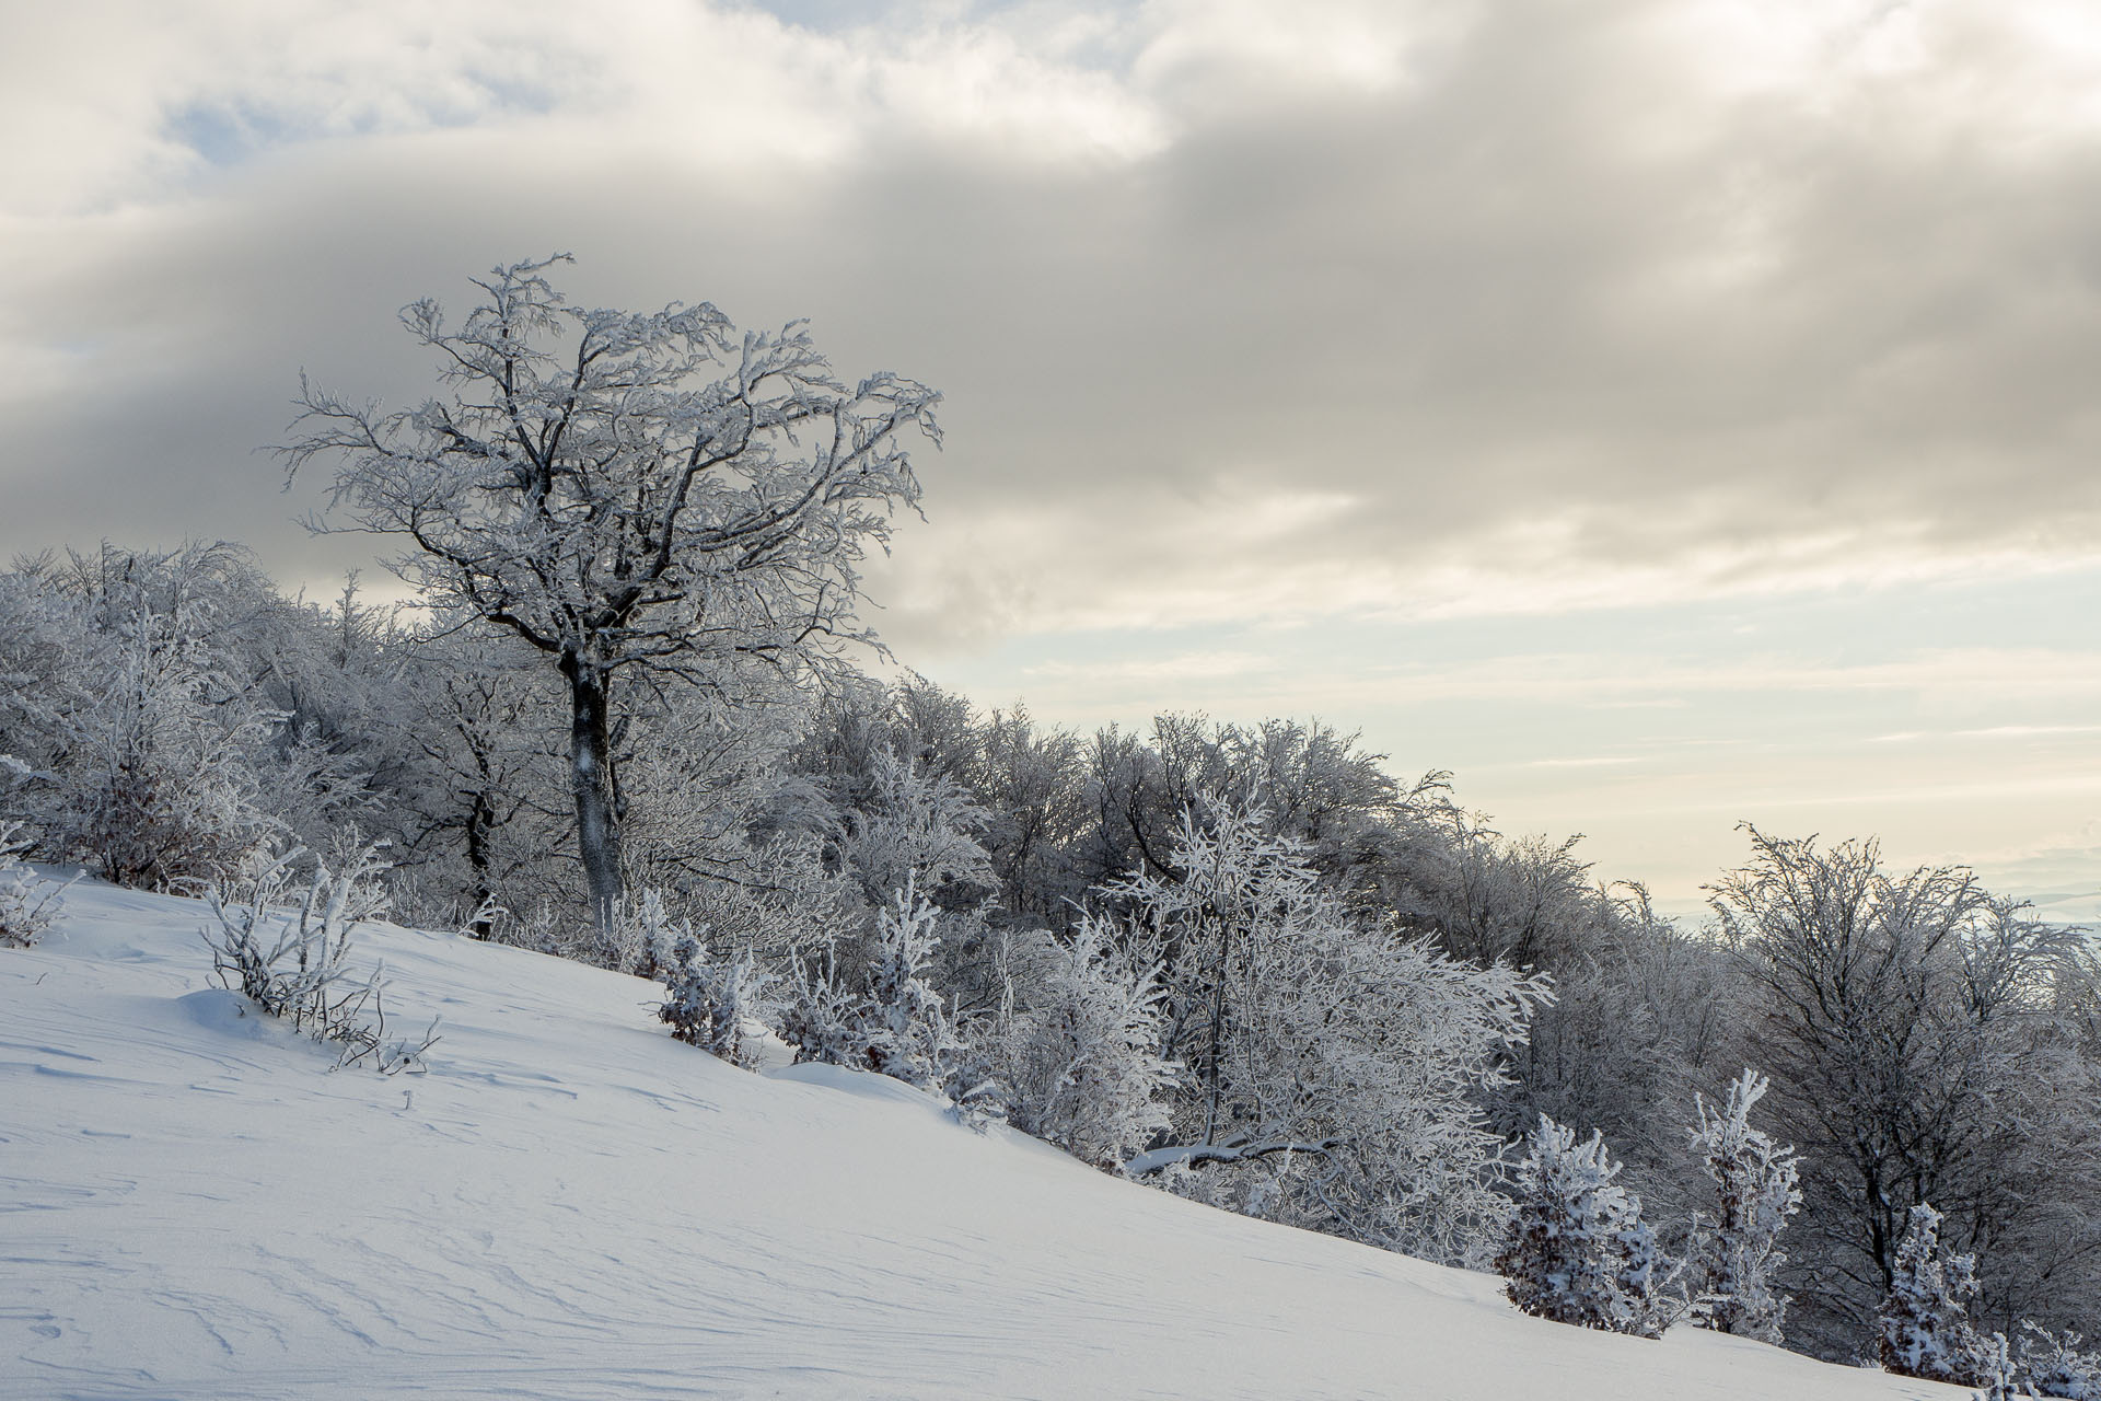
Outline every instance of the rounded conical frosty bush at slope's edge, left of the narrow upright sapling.
[[1517, 1168], [1517, 1212], [1496, 1271], [1525, 1313], [1658, 1338], [1670, 1315], [1656, 1233], [1641, 1199], [1614, 1185], [1618, 1174], [1603, 1134], [1576, 1143], [1576, 1130], [1542, 1113]]

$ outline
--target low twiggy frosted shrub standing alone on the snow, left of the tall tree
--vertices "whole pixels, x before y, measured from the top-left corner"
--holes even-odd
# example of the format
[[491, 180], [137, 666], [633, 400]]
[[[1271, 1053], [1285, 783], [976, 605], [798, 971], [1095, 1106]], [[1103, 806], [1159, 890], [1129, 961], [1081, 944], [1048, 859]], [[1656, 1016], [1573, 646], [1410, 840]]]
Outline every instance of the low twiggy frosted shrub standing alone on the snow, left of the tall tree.
[[317, 1042], [340, 1044], [336, 1065], [370, 1063], [382, 1073], [418, 1069], [437, 1040], [437, 1023], [422, 1038], [389, 1038], [380, 1000], [384, 968], [359, 977], [349, 966], [357, 924], [387, 909], [387, 895], [376, 884], [387, 870], [378, 844], [359, 846], [340, 876], [315, 861], [307, 888], [296, 893], [290, 867], [305, 855], [282, 857], [254, 876], [242, 897], [219, 882], [204, 888], [219, 922], [216, 933], [204, 930], [212, 973], [221, 987], [237, 987], [271, 1017], [284, 1017]]

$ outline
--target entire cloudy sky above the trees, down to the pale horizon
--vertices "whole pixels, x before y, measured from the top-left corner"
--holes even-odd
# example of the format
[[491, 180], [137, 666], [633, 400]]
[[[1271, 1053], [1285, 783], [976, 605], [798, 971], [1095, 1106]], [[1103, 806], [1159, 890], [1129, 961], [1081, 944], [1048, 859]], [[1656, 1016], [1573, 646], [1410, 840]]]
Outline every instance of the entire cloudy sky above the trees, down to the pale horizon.
[[1317, 714], [1687, 907], [1880, 832], [2101, 912], [2093, 0], [0, 0], [0, 552], [311, 542], [414, 296], [945, 395], [899, 657]]

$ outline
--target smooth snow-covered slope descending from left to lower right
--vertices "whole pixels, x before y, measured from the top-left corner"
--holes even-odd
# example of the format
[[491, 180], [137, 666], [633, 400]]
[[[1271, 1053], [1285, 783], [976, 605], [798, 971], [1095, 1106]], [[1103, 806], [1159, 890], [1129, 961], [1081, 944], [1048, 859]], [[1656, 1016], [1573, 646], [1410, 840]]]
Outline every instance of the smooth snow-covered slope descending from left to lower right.
[[431, 1073], [330, 1071], [210, 987], [204, 918], [82, 884], [0, 949], [0, 1397], [1962, 1395], [1527, 1319], [450, 935], [361, 945]]

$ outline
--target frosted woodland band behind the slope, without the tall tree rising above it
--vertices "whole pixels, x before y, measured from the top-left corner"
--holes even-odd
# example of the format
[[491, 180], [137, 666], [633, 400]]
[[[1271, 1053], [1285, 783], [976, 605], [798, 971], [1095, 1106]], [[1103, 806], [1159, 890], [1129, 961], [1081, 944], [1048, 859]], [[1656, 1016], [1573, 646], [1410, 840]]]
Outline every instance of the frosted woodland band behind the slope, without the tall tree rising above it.
[[689, 1040], [737, 964], [731, 1048], [800, 1025], [1103, 1166], [1454, 1262], [1504, 1248], [1540, 1115], [1601, 1130], [1698, 1254], [1696, 1094], [1754, 1065], [1801, 1153], [1794, 1346], [1870, 1346], [1920, 1204], [1979, 1323], [2095, 1323], [2095, 956], [1969, 872], [1746, 830], [1689, 930], [1317, 723], [1076, 733], [740, 666], [616, 676], [599, 918], [553, 691], [498, 628], [288, 599], [225, 544], [21, 561], [0, 819], [172, 891], [378, 838], [403, 922], [662, 977]]

